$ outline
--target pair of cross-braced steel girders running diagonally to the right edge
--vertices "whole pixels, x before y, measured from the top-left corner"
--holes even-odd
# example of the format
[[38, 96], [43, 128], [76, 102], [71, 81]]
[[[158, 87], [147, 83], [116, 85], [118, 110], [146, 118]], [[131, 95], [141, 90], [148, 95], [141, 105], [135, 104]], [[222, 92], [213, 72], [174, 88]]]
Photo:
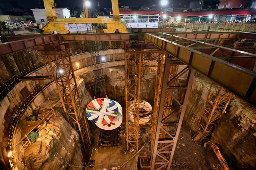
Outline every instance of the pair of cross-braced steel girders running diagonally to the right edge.
[[147, 33], [146, 39], [256, 107], [255, 54], [170, 34]]

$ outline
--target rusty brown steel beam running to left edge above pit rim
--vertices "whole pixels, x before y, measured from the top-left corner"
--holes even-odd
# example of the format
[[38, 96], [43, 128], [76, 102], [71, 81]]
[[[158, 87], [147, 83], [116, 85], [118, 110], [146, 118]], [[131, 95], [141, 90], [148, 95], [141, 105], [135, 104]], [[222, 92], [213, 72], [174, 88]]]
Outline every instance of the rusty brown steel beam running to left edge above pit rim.
[[50, 35], [12, 41], [7, 43], [0, 43], [0, 56], [36, 47], [38, 45], [44, 45], [46, 43], [51, 43], [58, 40], [58, 35]]

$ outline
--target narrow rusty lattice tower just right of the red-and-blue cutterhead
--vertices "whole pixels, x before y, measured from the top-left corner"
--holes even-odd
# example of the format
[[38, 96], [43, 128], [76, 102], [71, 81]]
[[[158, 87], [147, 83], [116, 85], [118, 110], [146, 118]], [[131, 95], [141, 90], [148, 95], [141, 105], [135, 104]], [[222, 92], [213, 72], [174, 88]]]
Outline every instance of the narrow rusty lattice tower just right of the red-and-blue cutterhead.
[[[139, 105], [140, 105], [140, 81], [142, 75], [142, 53], [124, 53], [125, 65], [125, 103], [126, 103], [126, 147], [127, 150], [138, 151], [139, 145]], [[135, 101], [134, 109], [130, 103]], [[137, 105], [136, 105], [137, 104]], [[130, 119], [129, 113], [134, 114]]]

